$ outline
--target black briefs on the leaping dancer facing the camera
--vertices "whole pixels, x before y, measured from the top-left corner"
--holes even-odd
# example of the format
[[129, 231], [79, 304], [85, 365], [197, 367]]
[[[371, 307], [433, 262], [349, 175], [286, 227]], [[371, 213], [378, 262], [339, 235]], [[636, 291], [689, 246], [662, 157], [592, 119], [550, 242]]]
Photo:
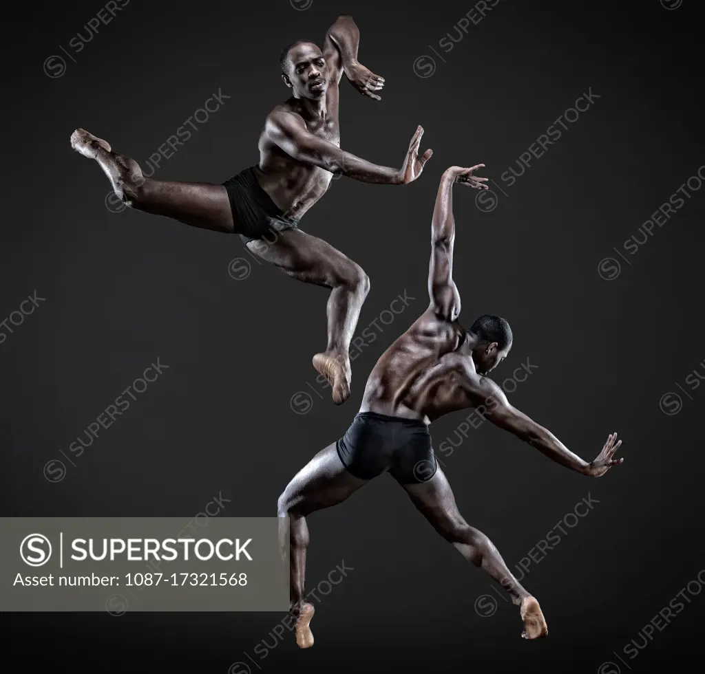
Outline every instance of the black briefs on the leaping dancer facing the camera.
[[286, 216], [271, 200], [271, 196], [264, 192], [257, 181], [254, 166], [245, 168], [223, 182], [223, 187], [228, 191], [235, 233], [240, 235], [243, 242], [262, 239], [269, 234], [272, 239], [270, 243], [273, 243], [272, 237], [276, 237], [276, 232], [298, 227], [299, 219]]

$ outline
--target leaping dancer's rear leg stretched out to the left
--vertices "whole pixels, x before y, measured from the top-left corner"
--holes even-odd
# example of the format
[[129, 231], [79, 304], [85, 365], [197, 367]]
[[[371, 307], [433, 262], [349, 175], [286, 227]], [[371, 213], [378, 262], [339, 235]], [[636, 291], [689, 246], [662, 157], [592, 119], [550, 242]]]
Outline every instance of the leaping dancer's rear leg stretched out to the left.
[[108, 142], [83, 129], [73, 132], [71, 146], [100, 164], [115, 194], [128, 206], [194, 227], [234, 231], [228, 193], [222, 185], [145, 178], [134, 159], [113, 152]]

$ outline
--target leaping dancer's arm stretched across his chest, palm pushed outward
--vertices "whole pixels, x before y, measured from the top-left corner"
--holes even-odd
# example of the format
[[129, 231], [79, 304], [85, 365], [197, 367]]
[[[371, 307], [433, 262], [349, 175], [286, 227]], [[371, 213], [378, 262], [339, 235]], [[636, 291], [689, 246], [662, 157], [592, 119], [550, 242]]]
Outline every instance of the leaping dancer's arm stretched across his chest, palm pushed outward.
[[271, 113], [266, 122], [266, 134], [271, 142], [298, 161], [319, 166], [331, 173], [341, 173], [361, 182], [376, 182], [382, 185], [408, 185], [414, 182], [433, 154], [432, 150], [427, 150], [419, 157], [419, 144], [424, 135], [420, 126], [411, 139], [402, 168], [377, 166], [341, 150], [337, 145], [309, 132], [304, 120], [295, 113]]

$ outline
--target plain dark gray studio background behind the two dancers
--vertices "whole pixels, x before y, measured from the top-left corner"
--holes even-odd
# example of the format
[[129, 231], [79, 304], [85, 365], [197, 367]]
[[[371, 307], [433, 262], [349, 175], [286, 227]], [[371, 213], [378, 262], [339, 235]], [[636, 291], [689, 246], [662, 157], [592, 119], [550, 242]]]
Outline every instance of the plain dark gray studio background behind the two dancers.
[[[497, 371], [538, 366], [510, 399], [580, 456], [609, 432], [624, 466], [590, 480], [547, 461], [510, 435], [472, 430], [442, 458], [461, 511], [510, 566], [590, 491], [600, 504], [525, 580], [550, 635], [519, 638], [517, 611], [500, 602], [482, 618], [484, 574], [465, 563], [388, 477], [309, 519], [309, 587], [344, 559], [354, 570], [317, 604], [317, 639], [299, 651], [286, 632], [266, 659], [253, 649], [281, 620], [272, 614], [4, 615], [8, 655], [31, 649], [27, 670], [226, 672], [389, 668], [594, 673], [705, 567], [699, 432], [705, 387], [659, 408], [685, 387], [702, 349], [705, 191], [606, 281], [599, 262], [705, 163], [697, 3], [658, 0], [505, 1], [432, 77], [418, 56], [474, 3], [314, 0], [133, 0], [73, 54], [62, 77], [42, 70], [102, 4], [25, 4], [4, 42], [6, 186], [0, 318], [33, 290], [46, 298], [0, 345], [4, 516], [183, 516], [221, 492], [228, 516], [276, 511], [281, 489], [344, 432], [384, 348], [426, 306], [429, 221], [451, 164], [486, 163], [500, 175], [592, 87], [601, 96], [498, 207], [474, 192], [455, 199], [454, 275], [466, 325], [479, 313], [510, 320], [515, 345]], [[301, 5], [301, 3], [300, 3]], [[637, 6], [638, 5], [638, 6]], [[22, 11], [20, 9], [20, 11]], [[304, 228], [358, 261], [372, 279], [360, 317], [369, 325], [407, 289], [415, 303], [353, 363], [342, 407], [313, 396], [298, 415], [290, 397], [310, 390], [312, 354], [324, 345], [326, 292], [253, 266], [238, 237], [192, 230], [143, 213], [110, 213], [109, 185], [71, 151], [82, 126], [144, 162], [205, 99], [231, 96], [155, 177], [222, 182], [257, 161], [264, 116], [286, 97], [277, 57], [294, 39], [323, 41], [352, 13], [360, 61], [386, 77], [383, 99], [341, 93], [342, 144], [398, 166], [419, 123], [435, 156], [410, 187], [333, 184]], [[431, 54], [432, 55], [432, 54]], [[621, 249], [621, 248], [620, 248]], [[61, 482], [42, 469], [159, 356], [169, 366]], [[315, 385], [314, 385], [315, 386]], [[686, 390], [688, 390], [686, 388]], [[432, 429], [436, 446], [465, 414]], [[675, 668], [701, 643], [701, 595], [628, 662], [635, 672]], [[268, 637], [269, 635], [269, 637]], [[245, 653], [254, 661], [247, 661]], [[619, 665], [622, 672], [627, 668]], [[245, 670], [240, 670], [245, 671]], [[616, 671], [616, 670], [613, 670]], [[239, 674], [239, 672], [233, 674]], [[603, 670], [602, 674], [612, 674]]]

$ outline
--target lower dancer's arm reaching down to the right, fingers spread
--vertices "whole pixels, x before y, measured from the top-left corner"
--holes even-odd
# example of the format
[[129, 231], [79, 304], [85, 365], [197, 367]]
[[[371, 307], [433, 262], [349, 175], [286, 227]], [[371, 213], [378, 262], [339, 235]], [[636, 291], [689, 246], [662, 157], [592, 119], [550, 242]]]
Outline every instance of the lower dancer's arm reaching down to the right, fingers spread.
[[565, 447], [551, 431], [510, 405], [503, 390], [487, 377], [480, 377], [472, 386], [470, 397], [475, 400], [477, 406], [482, 406], [483, 415], [486, 415], [492, 423], [512, 432], [536, 447], [544, 456], [577, 473], [591, 478], [600, 478], [612, 466], [619, 466], [624, 461], [623, 458], [612, 458], [622, 444], [621, 440], [617, 440], [616, 433], [609, 435], [594, 461], [589, 463], [583, 461], [580, 456]]

